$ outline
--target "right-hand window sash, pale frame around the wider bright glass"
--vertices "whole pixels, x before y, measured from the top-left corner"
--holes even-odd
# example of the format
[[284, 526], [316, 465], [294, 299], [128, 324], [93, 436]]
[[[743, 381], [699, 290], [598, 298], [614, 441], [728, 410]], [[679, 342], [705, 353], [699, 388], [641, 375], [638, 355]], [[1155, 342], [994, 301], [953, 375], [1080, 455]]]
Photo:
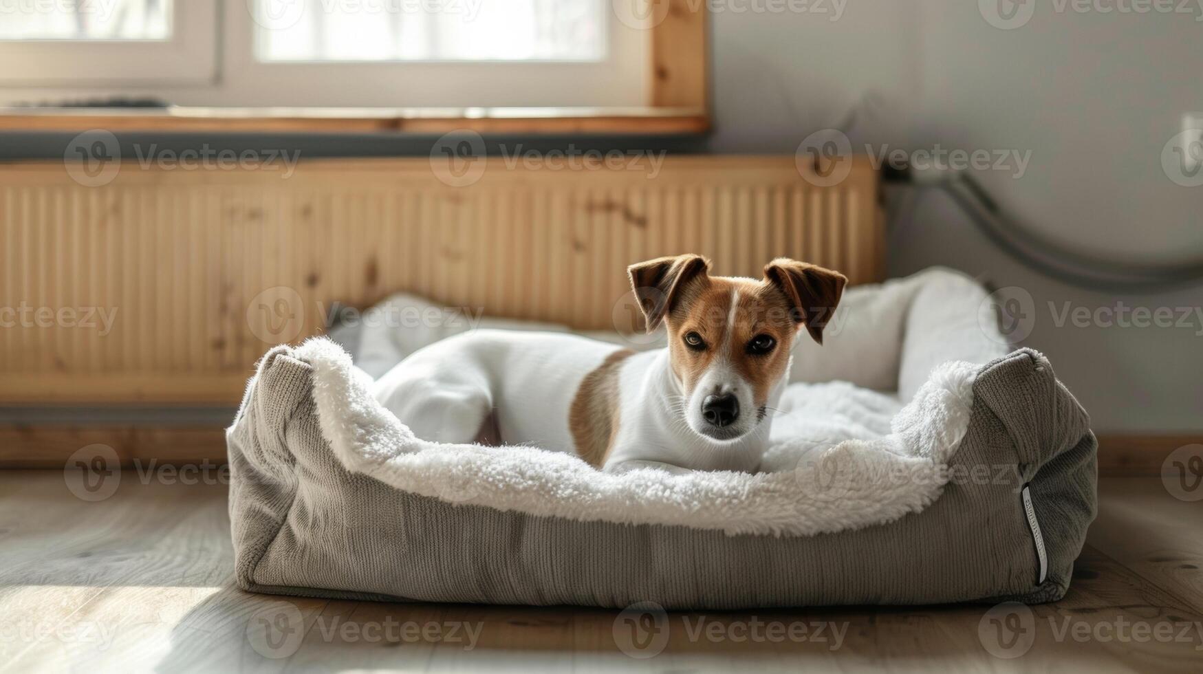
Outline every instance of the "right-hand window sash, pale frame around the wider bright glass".
[[647, 105], [646, 30], [612, 0], [243, 0], [227, 105]]

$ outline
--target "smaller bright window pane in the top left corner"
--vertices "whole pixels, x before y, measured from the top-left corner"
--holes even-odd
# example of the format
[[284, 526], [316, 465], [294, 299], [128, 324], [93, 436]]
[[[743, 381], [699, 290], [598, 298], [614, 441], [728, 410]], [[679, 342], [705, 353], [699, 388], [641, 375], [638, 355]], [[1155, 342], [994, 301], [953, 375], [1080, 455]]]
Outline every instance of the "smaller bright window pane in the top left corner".
[[166, 40], [172, 0], [0, 0], [0, 40]]

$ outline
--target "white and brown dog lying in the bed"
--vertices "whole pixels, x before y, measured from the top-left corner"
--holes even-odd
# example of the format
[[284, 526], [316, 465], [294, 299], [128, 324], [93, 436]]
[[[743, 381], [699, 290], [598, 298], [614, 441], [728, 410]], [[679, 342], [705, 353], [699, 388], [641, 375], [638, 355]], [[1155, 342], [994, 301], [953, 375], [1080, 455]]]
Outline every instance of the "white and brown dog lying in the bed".
[[427, 441], [472, 443], [492, 428], [503, 444], [574, 453], [611, 473], [757, 472], [794, 339], [805, 329], [823, 343], [847, 279], [789, 259], [761, 280], [712, 277], [699, 255], [627, 273], [666, 348], [476, 330], [415, 351], [373, 392]]

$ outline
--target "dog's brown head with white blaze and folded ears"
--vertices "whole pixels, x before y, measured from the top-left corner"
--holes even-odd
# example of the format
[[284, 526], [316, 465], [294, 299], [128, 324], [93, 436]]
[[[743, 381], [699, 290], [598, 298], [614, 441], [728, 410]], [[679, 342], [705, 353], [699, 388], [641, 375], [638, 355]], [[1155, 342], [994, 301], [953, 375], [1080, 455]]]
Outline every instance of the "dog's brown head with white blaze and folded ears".
[[764, 279], [710, 276], [699, 255], [659, 258], [628, 267], [651, 332], [668, 330], [669, 360], [683, 397], [676, 412], [700, 436], [735, 441], [768, 416], [774, 388], [787, 374], [802, 327], [823, 343], [840, 303], [843, 274], [784, 258]]

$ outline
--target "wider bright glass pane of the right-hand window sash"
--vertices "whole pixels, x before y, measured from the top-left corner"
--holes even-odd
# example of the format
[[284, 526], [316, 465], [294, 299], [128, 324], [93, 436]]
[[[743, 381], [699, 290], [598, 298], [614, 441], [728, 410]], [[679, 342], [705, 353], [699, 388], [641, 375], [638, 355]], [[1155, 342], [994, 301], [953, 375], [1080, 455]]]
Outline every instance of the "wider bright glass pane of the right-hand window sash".
[[254, 0], [265, 61], [602, 60], [609, 0]]

